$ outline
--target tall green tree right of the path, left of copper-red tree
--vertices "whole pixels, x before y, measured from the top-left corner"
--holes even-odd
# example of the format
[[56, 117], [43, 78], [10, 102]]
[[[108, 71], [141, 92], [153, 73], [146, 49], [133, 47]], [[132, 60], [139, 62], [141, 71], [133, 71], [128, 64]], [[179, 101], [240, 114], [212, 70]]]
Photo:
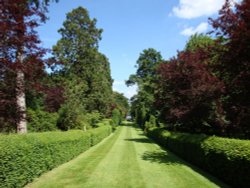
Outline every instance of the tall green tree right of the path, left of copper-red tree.
[[126, 81], [128, 86], [135, 84], [138, 86], [138, 94], [131, 99], [131, 115], [142, 127], [151, 114], [157, 115], [154, 108], [154, 91], [157, 80], [156, 70], [162, 61], [160, 52], [155, 49], [143, 50], [136, 62], [136, 74], [130, 75], [129, 80]]

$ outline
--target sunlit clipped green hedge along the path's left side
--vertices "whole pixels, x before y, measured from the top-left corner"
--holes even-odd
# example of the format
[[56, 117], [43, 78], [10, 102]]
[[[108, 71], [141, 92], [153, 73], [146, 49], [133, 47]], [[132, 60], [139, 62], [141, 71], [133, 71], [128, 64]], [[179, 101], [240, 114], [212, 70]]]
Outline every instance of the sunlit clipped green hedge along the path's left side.
[[42, 173], [76, 157], [111, 133], [111, 126], [91, 131], [0, 136], [0, 187], [23, 187]]

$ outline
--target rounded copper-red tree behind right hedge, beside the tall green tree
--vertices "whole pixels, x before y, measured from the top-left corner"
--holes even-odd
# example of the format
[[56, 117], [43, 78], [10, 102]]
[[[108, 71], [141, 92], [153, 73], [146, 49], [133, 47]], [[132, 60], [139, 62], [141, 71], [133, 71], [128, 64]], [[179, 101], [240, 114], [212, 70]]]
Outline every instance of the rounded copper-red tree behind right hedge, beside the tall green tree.
[[162, 119], [178, 125], [174, 128], [200, 132], [205, 131], [204, 126], [225, 126], [218, 110], [224, 85], [205, 61], [202, 51], [187, 51], [159, 66], [156, 105]]

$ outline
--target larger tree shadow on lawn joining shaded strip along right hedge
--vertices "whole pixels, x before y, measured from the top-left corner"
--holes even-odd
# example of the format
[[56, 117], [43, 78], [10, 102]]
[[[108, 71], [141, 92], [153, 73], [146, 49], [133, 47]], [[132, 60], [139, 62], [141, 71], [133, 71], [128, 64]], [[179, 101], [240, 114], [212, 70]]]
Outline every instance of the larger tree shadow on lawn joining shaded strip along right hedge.
[[171, 166], [188, 166], [195, 172], [201, 174], [203, 177], [207, 178], [209, 181], [213, 182], [219, 187], [222, 188], [228, 188], [229, 186], [221, 182], [216, 177], [210, 175], [209, 173], [201, 170], [200, 168], [182, 160], [175, 154], [171, 153], [170, 151], [166, 151], [162, 148], [161, 151], [146, 151], [141, 156], [143, 160], [150, 161], [152, 163], [159, 163], [159, 164], [165, 164], [165, 165], [171, 165]]

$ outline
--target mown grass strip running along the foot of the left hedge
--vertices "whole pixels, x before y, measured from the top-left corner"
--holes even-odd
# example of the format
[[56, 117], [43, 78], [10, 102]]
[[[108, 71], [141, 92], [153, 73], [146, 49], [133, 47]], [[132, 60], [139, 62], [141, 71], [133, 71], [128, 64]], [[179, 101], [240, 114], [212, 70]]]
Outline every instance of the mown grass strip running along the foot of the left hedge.
[[72, 185], [77, 187], [77, 184], [86, 182], [105, 155], [109, 153], [109, 150], [118, 139], [120, 133], [121, 130], [118, 129], [114, 134], [104, 139], [98, 145], [90, 148], [74, 160], [42, 175], [26, 187], [53, 188], [71, 187]]

